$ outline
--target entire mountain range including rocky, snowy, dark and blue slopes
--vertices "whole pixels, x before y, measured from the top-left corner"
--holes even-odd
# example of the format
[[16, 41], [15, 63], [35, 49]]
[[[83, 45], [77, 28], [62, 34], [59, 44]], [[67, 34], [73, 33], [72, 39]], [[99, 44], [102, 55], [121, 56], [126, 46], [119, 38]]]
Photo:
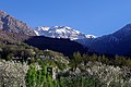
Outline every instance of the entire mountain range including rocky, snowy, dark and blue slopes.
[[25, 42], [40, 50], [53, 50], [70, 55], [73, 52], [131, 57], [131, 24], [119, 30], [95, 37], [69, 26], [38, 26], [26, 23], [0, 11], [0, 44]]

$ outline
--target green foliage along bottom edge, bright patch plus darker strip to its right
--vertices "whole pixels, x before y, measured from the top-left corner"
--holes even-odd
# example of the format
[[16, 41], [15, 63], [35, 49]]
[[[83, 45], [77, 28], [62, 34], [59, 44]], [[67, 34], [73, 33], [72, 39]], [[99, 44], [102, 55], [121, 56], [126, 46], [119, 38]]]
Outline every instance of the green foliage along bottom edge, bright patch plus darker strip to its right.
[[26, 75], [27, 87], [102, 87], [104, 86], [98, 79], [86, 75], [68, 75], [61, 74], [52, 79], [51, 74], [46, 71], [46, 65], [40, 70], [32, 64]]

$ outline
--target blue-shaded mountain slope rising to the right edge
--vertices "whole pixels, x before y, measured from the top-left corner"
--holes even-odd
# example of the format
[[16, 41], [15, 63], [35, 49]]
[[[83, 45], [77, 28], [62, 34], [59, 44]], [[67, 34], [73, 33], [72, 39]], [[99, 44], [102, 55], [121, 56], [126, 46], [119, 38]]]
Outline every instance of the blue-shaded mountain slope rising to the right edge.
[[88, 47], [91, 52], [100, 54], [131, 55], [131, 24], [121, 29], [92, 39], [79, 39], [78, 42]]

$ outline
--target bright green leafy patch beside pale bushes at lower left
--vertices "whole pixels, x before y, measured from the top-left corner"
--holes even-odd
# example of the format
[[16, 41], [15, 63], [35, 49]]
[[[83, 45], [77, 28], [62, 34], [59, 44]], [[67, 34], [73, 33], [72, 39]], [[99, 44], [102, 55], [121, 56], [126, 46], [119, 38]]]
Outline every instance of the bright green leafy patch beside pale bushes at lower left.
[[53, 87], [57, 85], [50, 73], [46, 72], [46, 67], [41, 67], [41, 70], [37, 70], [34, 65], [31, 65], [26, 76], [27, 87]]

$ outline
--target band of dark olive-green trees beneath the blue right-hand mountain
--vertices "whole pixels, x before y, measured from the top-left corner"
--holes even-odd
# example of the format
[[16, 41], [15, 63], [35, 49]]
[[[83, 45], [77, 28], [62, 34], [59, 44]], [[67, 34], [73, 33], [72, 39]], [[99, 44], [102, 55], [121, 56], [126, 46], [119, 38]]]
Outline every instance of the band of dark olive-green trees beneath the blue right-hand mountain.
[[70, 58], [71, 64], [80, 65], [80, 63], [86, 64], [88, 61], [92, 62], [100, 62], [106, 65], [114, 65], [114, 66], [128, 66], [131, 67], [131, 58], [128, 57], [105, 57], [97, 55], [97, 54], [81, 54], [79, 52], [73, 53], [73, 55]]

